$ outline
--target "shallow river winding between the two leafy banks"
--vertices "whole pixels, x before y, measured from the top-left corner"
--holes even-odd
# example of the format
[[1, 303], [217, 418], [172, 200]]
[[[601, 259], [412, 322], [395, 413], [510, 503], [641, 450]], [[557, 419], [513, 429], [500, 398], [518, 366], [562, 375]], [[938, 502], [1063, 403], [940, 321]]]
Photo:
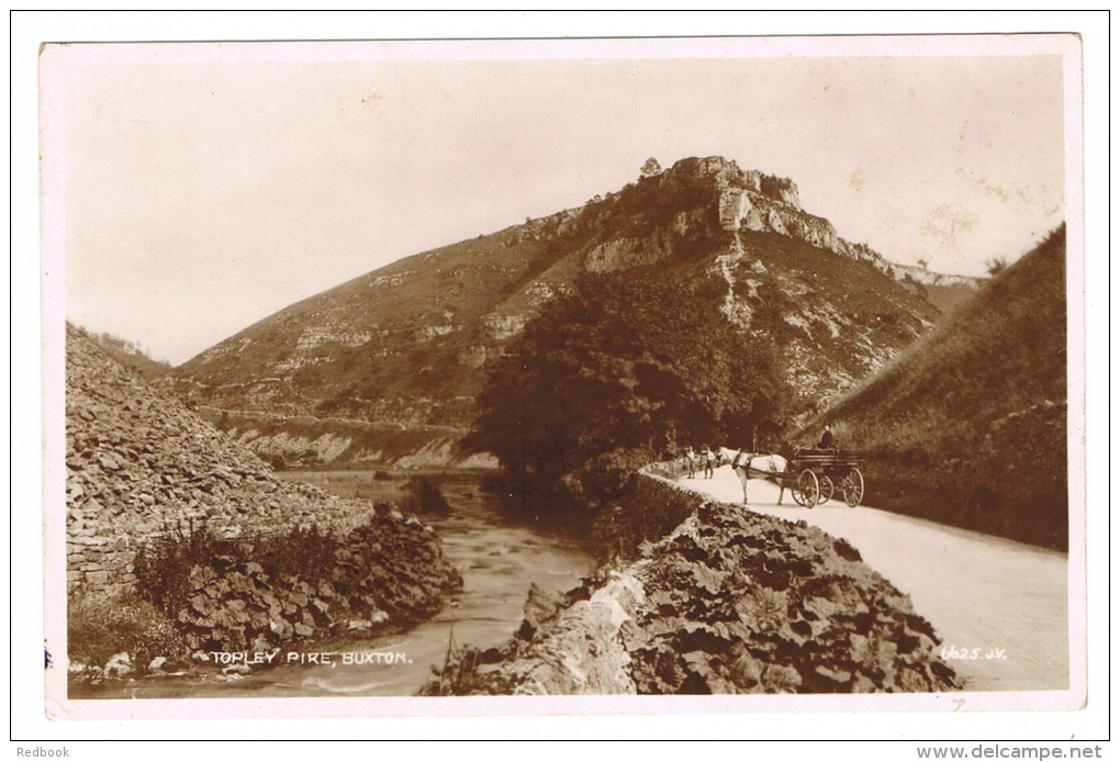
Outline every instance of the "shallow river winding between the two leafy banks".
[[[307, 474], [319, 486], [351, 483], [361, 475]], [[370, 477], [372, 478], [372, 477]], [[498, 500], [479, 490], [473, 474], [447, 474], [439, 486], [447, 515], [424, 515], [459, 570], [464, 587], [435, 619], [396, 635], [332, 645], [326, 654], [304, 645], [274, 657], [280, 666], [249, 676], [142, 678], [105, 686], [72, 684], [71, 698], [214, 698], [236, 696], [411, 696], [456, 647], [491, 648], [507, 641], [523, 617], [531, 584], [547, 593], [577, 586], [595, 568], [581, 541], [512, 521]], [[345, 490], [339, 490], [344, 492]]]

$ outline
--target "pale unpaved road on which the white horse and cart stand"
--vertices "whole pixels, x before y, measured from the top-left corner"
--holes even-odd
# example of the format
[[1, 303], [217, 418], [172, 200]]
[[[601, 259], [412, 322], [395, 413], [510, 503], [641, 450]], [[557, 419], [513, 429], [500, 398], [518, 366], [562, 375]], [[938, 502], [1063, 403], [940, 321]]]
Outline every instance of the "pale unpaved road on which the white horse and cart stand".
[[[743, 502], [730, 466], [681, 484]], [[754, 511], [804, 520], [858, 548], [936, 628], [968, 690], [1070, 688], [1065, 554], [837, 500], [809, 510], [788, 491], [777, 505], [778, 489], [767, 482], [750, 482], [749, 498]]]

